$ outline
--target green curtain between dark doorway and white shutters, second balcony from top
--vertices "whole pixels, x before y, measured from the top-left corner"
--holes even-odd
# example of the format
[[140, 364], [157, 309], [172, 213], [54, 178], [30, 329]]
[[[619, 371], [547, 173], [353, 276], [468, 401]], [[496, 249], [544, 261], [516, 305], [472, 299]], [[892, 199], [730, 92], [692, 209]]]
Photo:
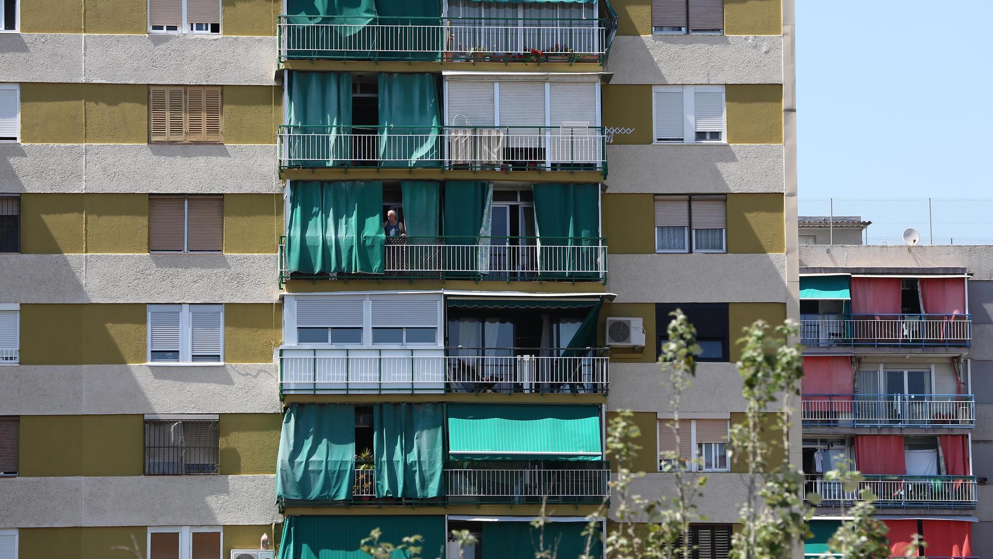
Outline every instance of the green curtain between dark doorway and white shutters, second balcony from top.
[[437, 77], [430, 73], [379, 74], [381, 167], [439, 167], [441, 110]]

